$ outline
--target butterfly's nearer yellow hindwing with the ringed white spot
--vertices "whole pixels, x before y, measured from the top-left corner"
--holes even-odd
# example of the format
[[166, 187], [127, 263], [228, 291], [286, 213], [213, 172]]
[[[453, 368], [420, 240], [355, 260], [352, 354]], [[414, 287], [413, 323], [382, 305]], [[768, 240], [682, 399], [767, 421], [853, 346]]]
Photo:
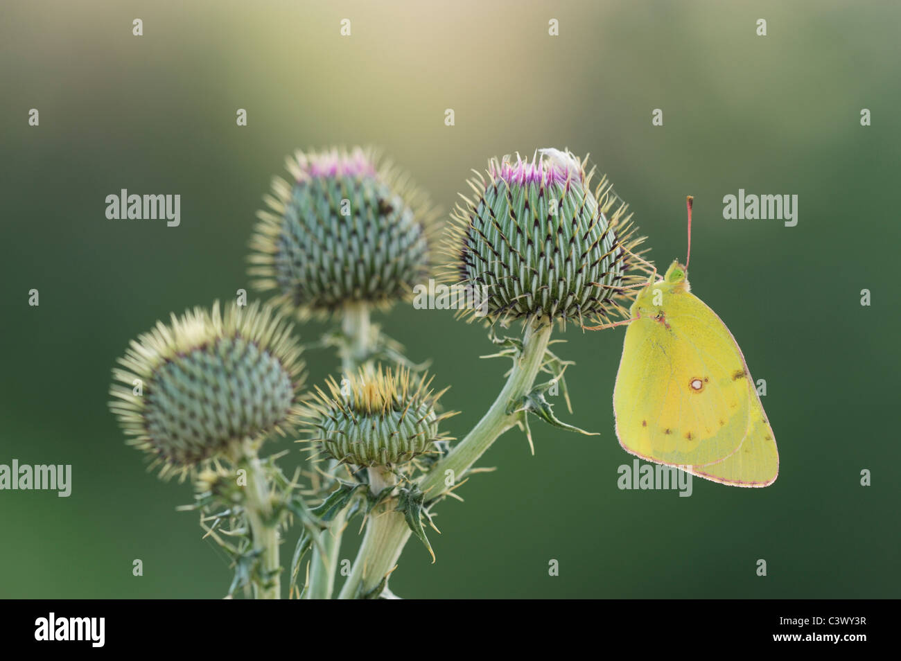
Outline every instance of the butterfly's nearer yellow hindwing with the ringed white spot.
[[642, 316], [626, 330], [614, 388], [616, 435], [628, 452], [662, 464], [722, 462], [751, 428], [748, 369], [704, 302], [687, 289], [666, 299], [660, 318]]

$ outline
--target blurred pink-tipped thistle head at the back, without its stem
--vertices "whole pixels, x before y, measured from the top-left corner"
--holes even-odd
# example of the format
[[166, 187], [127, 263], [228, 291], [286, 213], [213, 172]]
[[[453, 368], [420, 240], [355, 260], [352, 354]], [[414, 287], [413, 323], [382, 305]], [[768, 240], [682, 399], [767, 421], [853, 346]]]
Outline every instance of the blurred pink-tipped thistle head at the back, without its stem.
[[432, 268], [436, 213], [409, 177], [371, 151], [287, 158], [294, 181], [272, 182], [250, 240], [250, 276], [301, 318], [346, 303], [387, 306]]

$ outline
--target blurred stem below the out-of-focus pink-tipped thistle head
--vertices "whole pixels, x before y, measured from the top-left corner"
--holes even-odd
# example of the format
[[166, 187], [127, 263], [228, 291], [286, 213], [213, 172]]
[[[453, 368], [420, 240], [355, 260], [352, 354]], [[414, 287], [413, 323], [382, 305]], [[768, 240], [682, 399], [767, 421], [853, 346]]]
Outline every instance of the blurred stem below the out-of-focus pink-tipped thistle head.
[[[341, 349], [341, 371], [345, 376], [350, 376], [367, 361], [371, 350], [369, 306], [366, 303], [347, 305], [341, 321], [341, 330], [346, 338], [346, 344]], [[337, 462], [330, 461], [328, 473], [333, 474], [336, 468]], [[320, 533], [319, 544], [313, 547], [310, 583], [307, 586], [305, 599], [332, 598], [335, 573], [338, 569], [338, 555], [341, 552], [341, 537], [344, 534], [346, 522], [345, 512], [339, 512], [328, 527]]]

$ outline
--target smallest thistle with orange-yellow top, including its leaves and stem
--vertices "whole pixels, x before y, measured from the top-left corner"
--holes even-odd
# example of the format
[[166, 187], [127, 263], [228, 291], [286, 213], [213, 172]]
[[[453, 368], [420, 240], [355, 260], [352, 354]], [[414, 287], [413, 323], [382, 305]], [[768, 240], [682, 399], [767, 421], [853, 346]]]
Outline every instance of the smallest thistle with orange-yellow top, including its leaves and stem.
[[444, 390], [435, 393], [431, 383], [405, 367], [361, 369], [342, 386], [330, 379], [327, 391], [317, 387], [302, 414], [314, 451], [351, 466], [350, 479], [339, 481], [318, 512], [326, 515], [337, 504], [367, 513], [366, 534], [341, 596], [383, 595], [387, 576], [373, 554], [385, 537], [412, 530], [432, 552], [423, 528], [431, 517], [415, 475], [446, 452], [451, 439], [441, 433], [441, 422], [454, 413], [438, 412]]

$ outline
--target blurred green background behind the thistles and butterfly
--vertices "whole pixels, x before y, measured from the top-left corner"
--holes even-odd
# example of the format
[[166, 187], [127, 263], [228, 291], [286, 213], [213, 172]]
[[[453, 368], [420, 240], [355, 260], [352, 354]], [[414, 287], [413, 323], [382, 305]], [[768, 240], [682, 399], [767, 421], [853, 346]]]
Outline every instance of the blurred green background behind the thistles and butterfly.
[[[437, 564], [411, 542], [396, 593], [898, 596], [901, 6], [31, 2], [0, 17], [0, 463], [73, 466], [68, 499], [0, 492], [0, 597], [223, 596], [222, 554], [175, 511], [190, 485], [146, 473], [107, 411], [110, 369], [169, 312], [250, 290], [246, 244], [270, 177], [294, 149], [332, 143], [378, 145], [445, 210], [493, 155], [590, 152], [663, 267], [684, 257], [695, 195], [693, 291], [767, 380], [781, 455], [763, 490], [618, 490], [617, 466], [632, 462], [611, 403], [623, 329], [570, 327], [556, 337], [578, 361], [575, 413], [557, 409], [601, 435], [535, 421], [534, 457], [522, 434], [502, 437], [481, 462], [496, 473], [441, 504]], [[180, 227], [106, 220], [121, 188], [180, 194]], [[797, 226], [724, 221], [739, 188], [798, 195]], [[376, 321], [452, 385], [443, 401], [463, 412], [449, 423], [461, 437], [507, 367], [478, 358], [485, 331], [408, 305]], [[314, 382], [338, 367], [327, 352], [306, 359]], [[299, 447], [268, 446], [292, 449], [288, 469]], [[356, 525], [345, 539], [353, 557]]]

